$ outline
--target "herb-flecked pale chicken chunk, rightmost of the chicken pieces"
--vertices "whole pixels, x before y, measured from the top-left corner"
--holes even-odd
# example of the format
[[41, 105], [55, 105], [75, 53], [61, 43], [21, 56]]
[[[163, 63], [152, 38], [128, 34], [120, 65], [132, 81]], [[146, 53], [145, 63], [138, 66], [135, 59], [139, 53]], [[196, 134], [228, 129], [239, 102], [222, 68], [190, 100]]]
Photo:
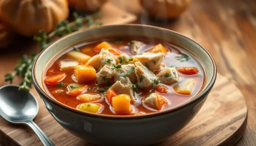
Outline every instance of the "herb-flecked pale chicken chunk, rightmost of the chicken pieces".
[[171, 85], [179, 81], [179, 74], [175, 68], [166, 68], [156, 75], [164, 84]]

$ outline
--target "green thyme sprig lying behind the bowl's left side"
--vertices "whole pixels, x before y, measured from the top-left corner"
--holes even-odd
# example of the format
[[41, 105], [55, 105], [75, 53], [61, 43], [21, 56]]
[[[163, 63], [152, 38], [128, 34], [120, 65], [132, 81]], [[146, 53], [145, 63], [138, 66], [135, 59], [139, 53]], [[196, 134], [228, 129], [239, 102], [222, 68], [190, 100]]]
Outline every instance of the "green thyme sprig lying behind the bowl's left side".
[[[103, 25], [100, 21], [94, 21], [94, 19], [101, 18], [100, 13], [85, 17], [79, 16], [77, 13], [73, 13], [73, 16], [75, 18], [73, 22], [69, 23], [67, 20], [61, 21], [57, 24], [55, 30], [48, 35], [43, 30], [40, 30], [39, 35], [33, 37], [33, 40], [38, 43], [40, 52], [52, 42], [52, 39], [54, 39], [55, 36], [61, 37], [83, 28]], [[87, 22], [87, 25], [83, 25], [85, 22]], [[23, 80], [20, 83], [21, 86], [19, 87], [19, 90], [29, 91], [29, 88], [32, 85], [32, 66], [38, 54], [39, 53], [36, 53], [30, 57], [24, 55], [14, 68], [14, 72], [5, 74], [5, 81], [10, 81], [10, 83], [12, 83], [15, 76], [20, 76]]]

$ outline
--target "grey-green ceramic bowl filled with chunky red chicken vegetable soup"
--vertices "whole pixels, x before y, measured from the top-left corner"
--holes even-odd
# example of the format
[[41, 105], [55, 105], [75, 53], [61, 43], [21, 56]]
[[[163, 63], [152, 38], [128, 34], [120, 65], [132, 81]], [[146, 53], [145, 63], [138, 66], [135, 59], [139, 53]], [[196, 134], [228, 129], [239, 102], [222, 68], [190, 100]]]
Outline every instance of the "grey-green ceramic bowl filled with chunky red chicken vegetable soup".
[[216, 65], [177, 32], [109, 25], [54, 41], [35, 60], [32, 78], [47, 110], [75, 136], [98, 145], [149, 145], [193, 119]]

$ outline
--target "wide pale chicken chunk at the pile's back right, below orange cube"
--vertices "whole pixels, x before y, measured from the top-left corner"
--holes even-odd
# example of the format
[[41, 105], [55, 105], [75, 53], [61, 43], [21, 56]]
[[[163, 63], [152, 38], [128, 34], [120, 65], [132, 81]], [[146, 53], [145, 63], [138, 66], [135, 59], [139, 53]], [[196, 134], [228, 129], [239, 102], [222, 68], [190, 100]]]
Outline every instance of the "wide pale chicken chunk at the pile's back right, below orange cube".
[[153, 72], [161, 69], [164, 53], [143, 53], [142, 55], [135, 55], [133, 59], [140, 61], [144, 66]]

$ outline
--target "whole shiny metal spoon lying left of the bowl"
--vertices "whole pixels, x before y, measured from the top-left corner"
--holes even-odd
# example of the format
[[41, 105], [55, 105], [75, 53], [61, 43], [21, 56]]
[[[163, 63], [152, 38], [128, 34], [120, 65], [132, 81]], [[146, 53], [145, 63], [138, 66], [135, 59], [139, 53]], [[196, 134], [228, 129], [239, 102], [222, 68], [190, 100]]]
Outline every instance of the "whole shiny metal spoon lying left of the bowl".
[[33, 122], [38, 113], [36, 98], [26, 91], [19, 91], [18, 85], [5, 85], [0, 88], [0, 116], [15, 124], [31, 127], [44, 146], [54, 146], [44, 132]]

